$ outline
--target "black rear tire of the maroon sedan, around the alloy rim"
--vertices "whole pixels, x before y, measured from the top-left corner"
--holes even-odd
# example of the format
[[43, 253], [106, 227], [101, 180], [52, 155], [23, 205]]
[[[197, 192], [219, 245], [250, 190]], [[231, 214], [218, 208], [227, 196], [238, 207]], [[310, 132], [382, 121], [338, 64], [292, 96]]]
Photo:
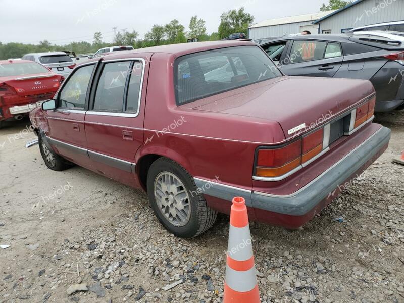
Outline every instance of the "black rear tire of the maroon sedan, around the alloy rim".
[[[189, 219], [183, 226], [176, 226], [166, 218], [160, 210], [155, 195], [155, 182], [157, 177], [169, 172], [176, 176], [184, 185], [188, 193], [188, 204], [190, 206]], [[196, 192], [197, 187], [192, 176], [178, 163], [168, 158], [159, 158], [153, 164], [147, 173], [147, 194], [160, 223], [172, 234], [180, 238], [193, 238], [207, 231], [216, 221], [217, 212], [211, 209], [204, 196]]]

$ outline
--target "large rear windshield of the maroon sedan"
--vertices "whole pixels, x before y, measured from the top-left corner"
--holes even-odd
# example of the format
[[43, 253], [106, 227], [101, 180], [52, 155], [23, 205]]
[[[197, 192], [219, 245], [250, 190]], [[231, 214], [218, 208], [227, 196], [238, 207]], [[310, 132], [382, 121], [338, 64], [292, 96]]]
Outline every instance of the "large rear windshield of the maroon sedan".
[[236, 46], [182, 56], [175, 61], [177, 104], [282, 76], [258, 46]]

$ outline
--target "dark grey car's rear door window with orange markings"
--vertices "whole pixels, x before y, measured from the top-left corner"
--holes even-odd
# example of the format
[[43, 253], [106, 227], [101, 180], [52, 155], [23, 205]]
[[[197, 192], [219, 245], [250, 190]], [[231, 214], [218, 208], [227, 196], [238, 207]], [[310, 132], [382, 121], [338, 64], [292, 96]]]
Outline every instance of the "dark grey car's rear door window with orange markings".
[[290, 62], [298, 63], [324, 58], [324, 51], [327, 43], [322, 41], [294, 41]]

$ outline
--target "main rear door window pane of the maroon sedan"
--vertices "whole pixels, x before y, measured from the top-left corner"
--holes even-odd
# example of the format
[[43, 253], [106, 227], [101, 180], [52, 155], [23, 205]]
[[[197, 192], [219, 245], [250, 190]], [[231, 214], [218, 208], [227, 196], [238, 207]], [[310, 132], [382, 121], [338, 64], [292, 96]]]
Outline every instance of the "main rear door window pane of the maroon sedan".
[[122, 112], [130, 64], [130, 61], [119, 61], [104, 65], [95, 91], [94, 110]]

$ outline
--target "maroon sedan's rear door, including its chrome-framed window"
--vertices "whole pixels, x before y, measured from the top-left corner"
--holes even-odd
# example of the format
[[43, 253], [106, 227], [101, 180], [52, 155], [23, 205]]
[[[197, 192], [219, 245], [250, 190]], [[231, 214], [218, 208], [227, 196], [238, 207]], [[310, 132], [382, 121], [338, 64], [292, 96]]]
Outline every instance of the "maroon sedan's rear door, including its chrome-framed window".
[[138, 185], [134, 158], [143, 144], [147, 74], [143, 58], [104, 60], [85, 116], [88, 154], [96, 170], [130, 186]]

